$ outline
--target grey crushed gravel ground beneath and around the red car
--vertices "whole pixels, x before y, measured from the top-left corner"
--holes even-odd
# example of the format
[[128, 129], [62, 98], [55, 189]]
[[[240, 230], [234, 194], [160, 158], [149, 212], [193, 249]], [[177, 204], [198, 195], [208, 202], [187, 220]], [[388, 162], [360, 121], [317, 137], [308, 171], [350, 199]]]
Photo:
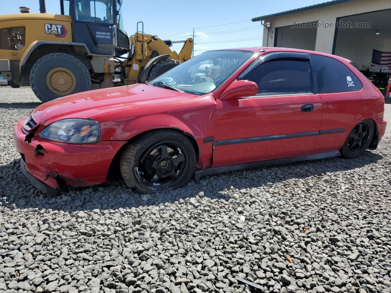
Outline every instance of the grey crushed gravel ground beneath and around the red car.
[[391, 291], [391, 127], [358, 159], [149, 197], [118, 181], [48, 198], [22, 175], [12, 138], [36, 106], [29, 88], [0, 88], [0, 291], [249, 292], [236, 275], [264, 292]]

